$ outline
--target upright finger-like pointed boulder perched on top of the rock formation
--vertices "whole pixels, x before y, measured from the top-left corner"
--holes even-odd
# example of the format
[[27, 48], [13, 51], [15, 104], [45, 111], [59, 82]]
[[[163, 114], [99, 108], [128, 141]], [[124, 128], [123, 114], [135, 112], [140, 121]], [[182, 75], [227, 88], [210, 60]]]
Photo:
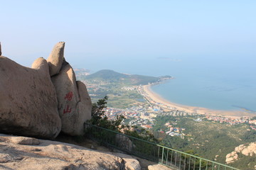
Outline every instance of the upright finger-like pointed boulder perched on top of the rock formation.
[[47, 62], [49, 64], [50, 76], [60, 72], [63, 63], [65, 42], [58, 42], [50, 53]]

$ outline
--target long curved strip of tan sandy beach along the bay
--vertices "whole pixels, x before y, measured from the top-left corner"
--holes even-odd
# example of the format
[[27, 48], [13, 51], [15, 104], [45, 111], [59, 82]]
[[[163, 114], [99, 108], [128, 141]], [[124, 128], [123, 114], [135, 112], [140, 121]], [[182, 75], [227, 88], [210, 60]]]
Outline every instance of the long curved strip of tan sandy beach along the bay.
[[151, 90], [151, 85], [143, 86], [144, 92], [148, 95], [156, 103], [161, 103], [163, 105], [169, 106], [171, 108], [176, 108], [179, 111], [186, 111], [187, 113], [198, 113], [203, 115], [222, 115], [228, 118], [240, 118], [242, 116], [255, 116], [253, 113], [247, 113], [246, 111], [220, 111], [220, 110], [213, 110], [208, 108], [201, 108], [195, 106], [185, 106], [178, 103], [173, 103], [164, 99], [163, 97], [159, 96], [159, 94], [154, 93]]

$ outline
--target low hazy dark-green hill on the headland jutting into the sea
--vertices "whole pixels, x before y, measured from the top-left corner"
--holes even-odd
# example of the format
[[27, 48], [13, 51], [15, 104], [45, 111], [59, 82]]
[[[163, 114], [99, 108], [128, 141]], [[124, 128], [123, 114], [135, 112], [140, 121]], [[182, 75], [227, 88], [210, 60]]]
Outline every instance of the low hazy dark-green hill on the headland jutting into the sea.
[[85, 76], [85, 79], [97, 79], [103, 81], [124, 81], [127, 84], [131, 85], [145, 85], [149, 83], [156, 83], [163, 79], [169, 78], [170, 76], [166, 77], [149, 77], [149, 76], [142, 76], [137, 74], [122, 74], [119, 72], [114, 72], [110, 69], [102, 69], [98, 72]]

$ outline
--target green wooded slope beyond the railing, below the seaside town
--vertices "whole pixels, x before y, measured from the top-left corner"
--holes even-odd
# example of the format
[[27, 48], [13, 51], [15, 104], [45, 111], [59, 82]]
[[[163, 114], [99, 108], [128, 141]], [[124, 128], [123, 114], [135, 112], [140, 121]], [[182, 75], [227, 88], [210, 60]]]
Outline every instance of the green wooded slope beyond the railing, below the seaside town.
[[[256, 131], [247, 130], [250, 125], [238, 124], [228, 125], [226, 123], [215, 123], [208, 120], [195, 121], [202, 116], [157, 116], [153, 127], [154, 135], [160, 138], [161, 145], [173, 147], [183, 152], [198, 154], [200, 157], [215, 160], [225, 164], [225, 156], [233, 152], [235, 147], [256, 141]], [[171, 137], [160, 131], [168, 128], [165, 123], [171, 123], [174, 127], [184, 128], [184, 137]], [[248, 166], [250, 164], [250, 166]], [[245, 157], [240, 155], [240, 160], [233, 162], [230, 166], [249, 170], [256, 164], [256, 157]]]

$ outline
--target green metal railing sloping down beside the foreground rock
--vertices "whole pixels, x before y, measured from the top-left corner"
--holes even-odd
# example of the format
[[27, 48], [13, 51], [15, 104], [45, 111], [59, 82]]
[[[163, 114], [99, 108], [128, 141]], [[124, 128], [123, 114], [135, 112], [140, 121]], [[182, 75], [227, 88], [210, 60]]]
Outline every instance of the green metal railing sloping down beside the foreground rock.
[[157, 145], [152, 142], [124, 135], [85, 123], [87, 137], [97, 140], [102, 145], [114, 147], [137, 157], [149, 159], [179, 170], [239, 170], [231, 166], [196, 157], [176, 149]]

